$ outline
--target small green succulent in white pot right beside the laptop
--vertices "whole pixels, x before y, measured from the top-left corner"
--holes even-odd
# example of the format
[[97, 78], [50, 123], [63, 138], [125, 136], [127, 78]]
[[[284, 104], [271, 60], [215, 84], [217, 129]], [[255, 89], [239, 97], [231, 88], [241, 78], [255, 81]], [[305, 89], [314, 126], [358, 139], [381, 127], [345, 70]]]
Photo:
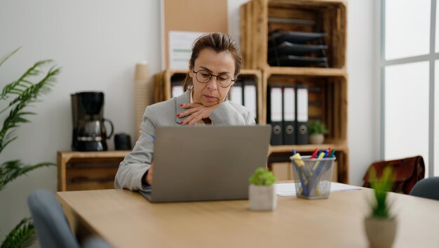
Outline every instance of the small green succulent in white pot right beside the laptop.
[[248, 179], [250, 209], [273, 210], [277, 207], [274, 183], [276, 176], [266, 168], [258, 168]]

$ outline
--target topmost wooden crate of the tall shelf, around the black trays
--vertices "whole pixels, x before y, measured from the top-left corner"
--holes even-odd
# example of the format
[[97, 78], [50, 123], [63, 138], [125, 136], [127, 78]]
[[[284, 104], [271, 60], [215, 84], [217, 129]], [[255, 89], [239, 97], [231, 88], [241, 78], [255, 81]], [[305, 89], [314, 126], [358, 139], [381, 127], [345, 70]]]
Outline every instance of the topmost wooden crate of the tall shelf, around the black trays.
[[[312, 24], [313, 23], [313, 24]], [[269, 67], [269, 31], [325, 32], [330, 68], [346, 64], [346, 3], [342, 0], [252, 0], [241, 6], [245, 68]], [[330, 70], [330, 69], [329, 69]]]

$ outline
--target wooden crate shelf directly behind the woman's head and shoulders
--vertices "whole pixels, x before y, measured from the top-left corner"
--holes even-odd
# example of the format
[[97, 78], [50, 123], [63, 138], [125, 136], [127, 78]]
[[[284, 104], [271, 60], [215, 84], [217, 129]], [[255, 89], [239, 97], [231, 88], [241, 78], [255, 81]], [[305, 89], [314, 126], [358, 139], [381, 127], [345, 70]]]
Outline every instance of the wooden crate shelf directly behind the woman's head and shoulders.
[[[187, 70], [164, 70], [154, 75], [154, 103], [171, 98], [171, 87], [174, 82], [182, 84], [187, 75]], [[257, 122], [264, 123], [262, 119], [262, 72], [260, 70], [241, 70], [238, 81], [251, 80], [257, 84]]]

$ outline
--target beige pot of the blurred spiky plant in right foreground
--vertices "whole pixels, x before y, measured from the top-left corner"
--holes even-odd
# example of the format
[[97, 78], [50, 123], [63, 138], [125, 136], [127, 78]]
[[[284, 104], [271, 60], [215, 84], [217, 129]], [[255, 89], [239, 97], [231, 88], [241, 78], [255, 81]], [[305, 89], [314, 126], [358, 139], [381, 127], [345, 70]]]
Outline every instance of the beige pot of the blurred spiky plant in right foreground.
[[365, 218], [367, 240], [370, 248], [392, 247], [396, 237], [396, 218]]

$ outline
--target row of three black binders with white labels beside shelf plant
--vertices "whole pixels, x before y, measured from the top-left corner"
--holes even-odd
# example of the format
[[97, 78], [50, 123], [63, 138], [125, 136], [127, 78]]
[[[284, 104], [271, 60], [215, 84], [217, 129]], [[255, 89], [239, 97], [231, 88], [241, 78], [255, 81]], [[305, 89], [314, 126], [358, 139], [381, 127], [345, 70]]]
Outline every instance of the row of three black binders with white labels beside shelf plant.
[[271, 145], [308, 144], [308, 89], [303, 85], [270, 85], [267, 123]]

